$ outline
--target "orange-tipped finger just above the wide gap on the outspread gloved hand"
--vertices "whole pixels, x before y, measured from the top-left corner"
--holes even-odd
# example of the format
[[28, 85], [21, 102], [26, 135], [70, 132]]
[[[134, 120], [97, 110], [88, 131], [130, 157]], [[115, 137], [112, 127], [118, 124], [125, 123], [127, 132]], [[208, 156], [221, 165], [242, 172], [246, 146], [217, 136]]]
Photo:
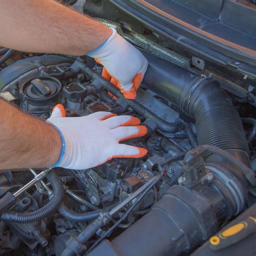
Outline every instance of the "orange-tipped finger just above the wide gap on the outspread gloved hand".
[[137, 138], [146, 135], [147, 129], [144, 125], [139, 126], [120, 126], [112, 130], [118, 142]]

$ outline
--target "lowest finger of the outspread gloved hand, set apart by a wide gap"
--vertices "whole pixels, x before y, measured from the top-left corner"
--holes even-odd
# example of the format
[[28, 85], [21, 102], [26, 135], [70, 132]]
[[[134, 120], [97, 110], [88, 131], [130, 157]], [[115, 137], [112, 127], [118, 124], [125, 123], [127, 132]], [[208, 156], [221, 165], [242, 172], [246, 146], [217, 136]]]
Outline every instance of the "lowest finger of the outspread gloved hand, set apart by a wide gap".
[[141, 158], [147, 154], [147, 150], [143, 147], [119, 144], [117, 153], [118, 155], [115, 155], [112, 158], [116, 158], [116, 157]]

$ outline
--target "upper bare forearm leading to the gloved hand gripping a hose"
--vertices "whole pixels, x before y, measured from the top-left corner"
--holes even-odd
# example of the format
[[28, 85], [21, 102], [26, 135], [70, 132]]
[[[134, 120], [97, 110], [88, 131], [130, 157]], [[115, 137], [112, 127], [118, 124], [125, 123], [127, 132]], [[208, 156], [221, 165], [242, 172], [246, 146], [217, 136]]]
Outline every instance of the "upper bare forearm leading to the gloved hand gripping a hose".
[[110, 35], [108, 27], [53, 0], [1, 0], [0, 45], [12, 49], [83, 55]]

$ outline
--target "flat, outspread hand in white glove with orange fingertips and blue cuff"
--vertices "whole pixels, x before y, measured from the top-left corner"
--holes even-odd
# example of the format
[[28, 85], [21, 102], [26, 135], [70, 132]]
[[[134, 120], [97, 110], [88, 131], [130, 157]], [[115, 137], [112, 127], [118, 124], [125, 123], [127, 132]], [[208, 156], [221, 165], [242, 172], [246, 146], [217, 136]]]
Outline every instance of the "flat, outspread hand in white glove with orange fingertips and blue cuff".
[[147, 154], [145, 148], [119, 144], [147, 133], [136, 117], [110, 112], [65, 117], [63, 106], [58, 104], [47, 122], [57, 128], [62, 139], [59, 161], [52, 167], [88, 169], [115, 157], [140, 158]]

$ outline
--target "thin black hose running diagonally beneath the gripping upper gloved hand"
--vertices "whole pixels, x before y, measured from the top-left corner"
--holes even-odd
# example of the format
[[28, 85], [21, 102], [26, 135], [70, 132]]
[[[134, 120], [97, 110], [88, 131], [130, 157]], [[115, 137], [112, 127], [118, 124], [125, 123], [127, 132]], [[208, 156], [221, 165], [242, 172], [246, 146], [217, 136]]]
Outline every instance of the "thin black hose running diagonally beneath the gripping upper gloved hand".
[[136, 113], [143, 116], [145, 119], [147, 118], [152, 119], [157, 124], [157, 127], [160, 131], [166, 132], [166, 133], [176, 133], [182, 130], [183, 125], [181, 122], [179, 121], [174, 123], [166, 122], [165, 120], [161, 119], [150, 110], [146, 109], [143, 105], [141, 105], [136, 100], [124, 98], [123, 94], [120, 92], [118, 88], [116, 88], [111, 82], [104, 79], [103, 77], [98, 75], [96, 72], [88, 68], [85, 64], [80, 63], [80, 66], [84, 74], [88, 75], [93, 79], [99, 80], [102, 83], [102, 86], [105, 90], [112, 93], [117, 98], [124, 99], [130, 106], [130, 108], [133, 109]]

